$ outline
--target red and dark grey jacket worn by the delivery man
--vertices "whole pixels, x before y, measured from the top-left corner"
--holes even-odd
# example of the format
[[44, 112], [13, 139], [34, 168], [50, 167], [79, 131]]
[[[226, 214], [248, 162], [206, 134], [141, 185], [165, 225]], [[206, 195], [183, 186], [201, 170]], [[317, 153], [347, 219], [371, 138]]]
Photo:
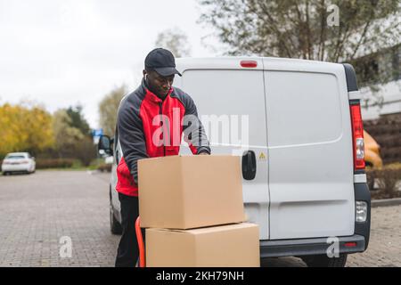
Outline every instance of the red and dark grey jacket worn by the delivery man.
[[[183, 124], [185, 118], [190, 118], [188, 126]], [[142, 81], [119, 105], [117, 132], [123, 156], [117, 167], [116, 190], [128, 196], [138, 196], [137, 160], [177, 155], [183, 133], [193, 154], [210, 153], [192, 98], [176, 87], [161, 100]]]

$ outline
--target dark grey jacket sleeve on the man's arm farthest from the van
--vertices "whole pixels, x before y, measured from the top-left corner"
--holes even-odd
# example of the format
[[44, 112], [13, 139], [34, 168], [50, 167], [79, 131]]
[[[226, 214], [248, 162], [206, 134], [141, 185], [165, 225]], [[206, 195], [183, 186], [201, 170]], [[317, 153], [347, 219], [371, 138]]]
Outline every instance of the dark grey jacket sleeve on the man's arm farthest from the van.
[[121, 102], [117, 118], [119, 128], [119, 143], [126, 160], [127, 167], [134, 181], [138, 184], [138, 159], [147, 158], [146, 144], [143, 135], [143, 124], [139, 117], [139, 106], [124, 101]]

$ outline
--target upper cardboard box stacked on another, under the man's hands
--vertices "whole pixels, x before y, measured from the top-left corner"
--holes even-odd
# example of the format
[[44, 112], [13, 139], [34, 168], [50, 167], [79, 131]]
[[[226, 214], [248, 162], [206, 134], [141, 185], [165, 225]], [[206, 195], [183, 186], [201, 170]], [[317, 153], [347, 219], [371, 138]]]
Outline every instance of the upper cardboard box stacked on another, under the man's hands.
[[244, 221], [238, 156], [170, 156], [138, 161], [144, 228], [190, 229]]

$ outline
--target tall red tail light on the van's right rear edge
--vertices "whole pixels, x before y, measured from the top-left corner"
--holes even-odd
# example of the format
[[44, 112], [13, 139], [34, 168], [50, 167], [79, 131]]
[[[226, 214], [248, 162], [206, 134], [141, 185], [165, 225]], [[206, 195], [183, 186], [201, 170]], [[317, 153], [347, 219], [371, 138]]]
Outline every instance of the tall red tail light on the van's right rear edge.
[[354, 169], [364, 169], [364, 124], [359, 102], [350, 105], [352, 137], [354, 146]]

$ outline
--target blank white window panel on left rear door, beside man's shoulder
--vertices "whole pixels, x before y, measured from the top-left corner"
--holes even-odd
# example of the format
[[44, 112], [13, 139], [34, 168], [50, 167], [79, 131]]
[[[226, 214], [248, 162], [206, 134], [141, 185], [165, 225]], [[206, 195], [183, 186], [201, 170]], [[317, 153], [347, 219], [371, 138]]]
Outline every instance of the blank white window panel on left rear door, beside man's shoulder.
[[[263, 71], [187, 70], [183, 75], [183, 91], [197, 105], [211, 143], [266, 146]], [[204, 115], [215, 116], [219, 121], [218, 138]], [[225, 132], [229, 133], [228, 142], [224, 139]]]

